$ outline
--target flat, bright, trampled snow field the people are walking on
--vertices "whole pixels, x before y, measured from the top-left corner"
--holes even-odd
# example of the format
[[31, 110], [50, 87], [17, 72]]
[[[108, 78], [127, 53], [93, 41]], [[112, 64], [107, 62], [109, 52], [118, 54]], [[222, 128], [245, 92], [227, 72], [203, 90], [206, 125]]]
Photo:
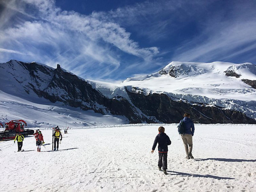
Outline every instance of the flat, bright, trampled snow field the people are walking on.
[[34, 137], [0, 142], [3, 191], [256, 191], [255, 126], [197, 125], [195, 159], [185, 159], [176, 124], [164, 125], [172, 144], [169, 175], [158, 171], [151, 148], [158, 126], [71, 129], [59, 151], [52, 131], [43, 130], [45, 148]]

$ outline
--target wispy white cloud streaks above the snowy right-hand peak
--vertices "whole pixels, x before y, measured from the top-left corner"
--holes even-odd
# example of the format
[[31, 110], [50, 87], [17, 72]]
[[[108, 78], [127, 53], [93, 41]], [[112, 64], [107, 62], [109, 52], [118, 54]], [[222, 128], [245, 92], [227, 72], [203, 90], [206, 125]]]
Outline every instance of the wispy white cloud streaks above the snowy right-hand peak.
[[223, 26], [212, 23], [197, 38], [180, 46], [172, 59], [202, 62], [232, 59], [239, 54], [256, 50], [255, 30], [255, 20], [236, 20], [235, 23], [228, 21]]

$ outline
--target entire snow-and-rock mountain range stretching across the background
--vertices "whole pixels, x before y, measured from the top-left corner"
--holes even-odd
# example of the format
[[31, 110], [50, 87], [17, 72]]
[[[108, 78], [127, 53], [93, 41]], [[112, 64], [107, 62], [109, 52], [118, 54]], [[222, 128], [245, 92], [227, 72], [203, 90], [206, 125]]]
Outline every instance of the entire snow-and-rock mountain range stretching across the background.
[[[171, 62], [121, 84], [85, 80], [60, 65], [54, 69], [16, 60], [1, 63], [0, 73], [0, 113], [12, 118], [22, 117], [15, 110], [20, 106], [26, 113], [41, 110], [39, 116], [55, 108], [70, 126], [178, 123], [184, 112], [199, 123], [256, 123], [256, 66], [251, 63]], [[98, 114], [96, 121], [92, 114]], [[111, 120], [101, 121], [99, 115]], [[42, 117], [41, 126], [48, 121]]]

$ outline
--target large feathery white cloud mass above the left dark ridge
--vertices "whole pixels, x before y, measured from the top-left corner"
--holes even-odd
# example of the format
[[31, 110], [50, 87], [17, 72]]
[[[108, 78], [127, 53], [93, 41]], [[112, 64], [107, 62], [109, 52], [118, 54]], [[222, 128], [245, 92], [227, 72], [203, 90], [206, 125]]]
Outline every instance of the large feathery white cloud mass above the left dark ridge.
[[[4, 1], [4, 6], [8, 11], [1, 13], [0, 23], [6, 16], [13, 18], [15, 14], [6, 15], [12, 11], [32, 18], [8, 28], [0, 27], [0, 48], [32, 52], [33, 58], [19, 57], [24, 61], [36, 60], [52, 67], [58, 62], [77, 75], [95, 78], [97, 73], [104, 78], [119, 68], [120, 54], [151, 61], [159, 52], [157, 47], [140, 47], [129, 32], [114, 22], [63, 11], [53, 0], [12, 0]], [[18, 52], [9, 51], [12, 55]], [[7, 56], [0, 52], [1, 61]]]

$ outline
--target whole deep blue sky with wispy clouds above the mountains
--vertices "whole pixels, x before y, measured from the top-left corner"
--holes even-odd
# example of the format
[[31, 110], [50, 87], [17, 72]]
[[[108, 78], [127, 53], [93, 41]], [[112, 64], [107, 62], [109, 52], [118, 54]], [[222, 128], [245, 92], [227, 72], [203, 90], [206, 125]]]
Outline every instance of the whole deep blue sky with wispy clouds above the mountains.
[[0, 62], [121, 82], [171, 61], [256, 64], [256, 1], [1, 0]]

